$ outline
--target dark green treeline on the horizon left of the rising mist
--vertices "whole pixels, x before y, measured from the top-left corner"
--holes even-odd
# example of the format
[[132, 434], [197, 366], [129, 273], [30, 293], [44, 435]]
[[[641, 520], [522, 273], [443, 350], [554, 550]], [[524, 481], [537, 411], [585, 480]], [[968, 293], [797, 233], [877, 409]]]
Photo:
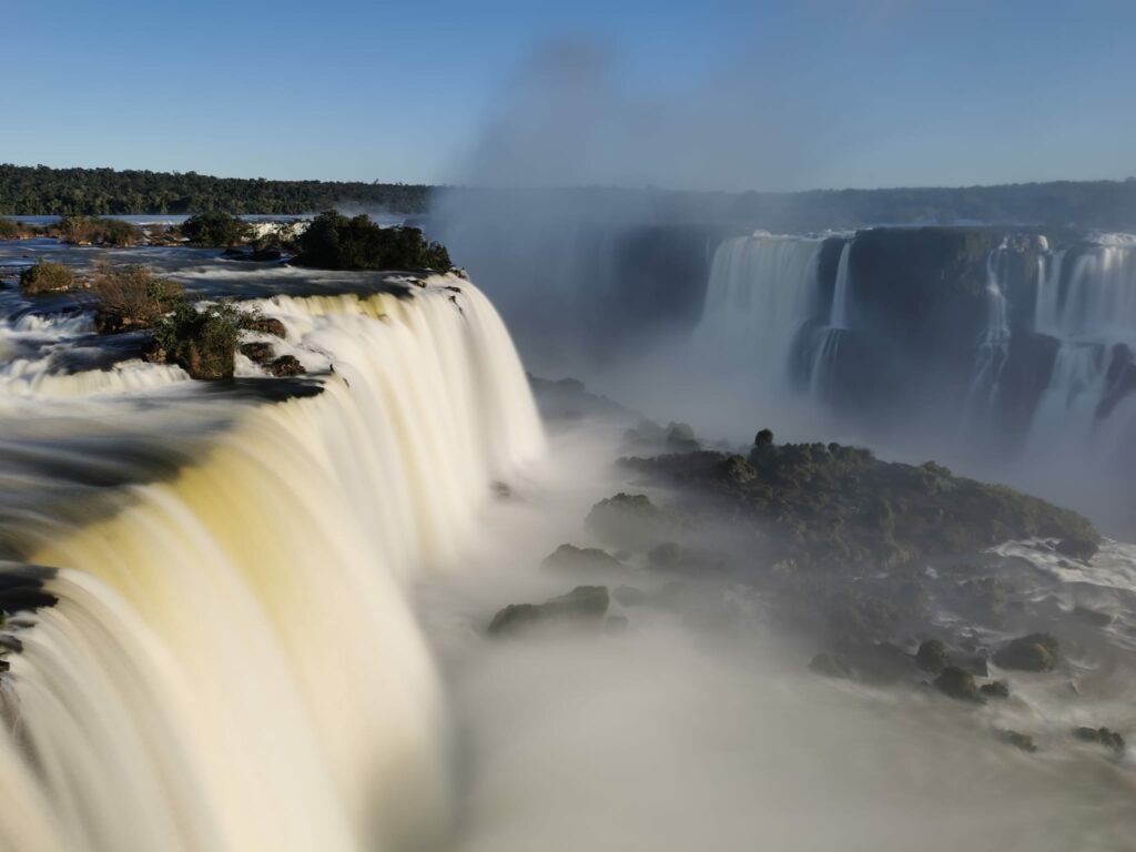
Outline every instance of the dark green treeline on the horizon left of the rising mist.
[[194, 172], [117, 172], [0, 165], [0, 215], [304, 214], [359, 204], [394, 214], [426, 210], [429, 186], [265, 181]]

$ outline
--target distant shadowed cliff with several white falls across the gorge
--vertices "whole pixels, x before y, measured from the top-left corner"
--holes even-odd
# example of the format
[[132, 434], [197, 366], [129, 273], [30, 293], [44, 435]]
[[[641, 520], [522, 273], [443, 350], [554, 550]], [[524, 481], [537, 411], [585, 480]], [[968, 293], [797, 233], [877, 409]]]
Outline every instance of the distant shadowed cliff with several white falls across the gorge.
[[1016, 481], [1045, 493], [1081, 469], [1136, 470], [1129, 235], [729, 239], [691, 351], [750, 376], [735, 387], [762, 410], [792, 403], [842, 434], [976, 470], [996, 462], [1011, 478], [1017, 466]]

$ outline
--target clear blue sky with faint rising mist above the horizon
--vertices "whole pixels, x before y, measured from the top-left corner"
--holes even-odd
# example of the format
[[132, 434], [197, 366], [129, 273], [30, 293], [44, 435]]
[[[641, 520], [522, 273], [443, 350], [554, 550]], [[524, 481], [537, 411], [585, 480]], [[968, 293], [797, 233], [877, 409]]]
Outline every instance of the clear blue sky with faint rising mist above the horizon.
[[1134, 0], [0, 0], [0, 161], [733, 189], [1136, 174]]

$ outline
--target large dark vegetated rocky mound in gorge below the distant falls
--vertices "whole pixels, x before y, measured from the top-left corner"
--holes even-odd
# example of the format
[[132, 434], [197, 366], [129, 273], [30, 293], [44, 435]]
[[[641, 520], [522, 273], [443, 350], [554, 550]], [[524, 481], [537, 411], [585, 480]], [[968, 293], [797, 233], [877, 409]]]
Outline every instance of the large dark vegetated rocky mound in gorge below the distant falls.
[[[934, 462], [885, 462], [867, 450], [819, 443], [761, 444], [742, 461], [703, 451], [625, 465], [692, 495], [676, 510], [687, 523], [725, 513], [763, 529], [775, 560], [815, 567], [895, 566], [1037, 536], [1099, 538], [1076, 512], [1003, 485], [952, 476]], [[590, 523], [616, 512], [607, 525], [616, 527], [652, 510], [659, 511], [650, 501], [619, 495], [593, 509]]]

